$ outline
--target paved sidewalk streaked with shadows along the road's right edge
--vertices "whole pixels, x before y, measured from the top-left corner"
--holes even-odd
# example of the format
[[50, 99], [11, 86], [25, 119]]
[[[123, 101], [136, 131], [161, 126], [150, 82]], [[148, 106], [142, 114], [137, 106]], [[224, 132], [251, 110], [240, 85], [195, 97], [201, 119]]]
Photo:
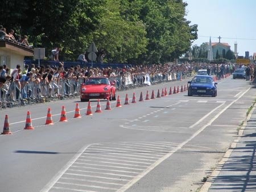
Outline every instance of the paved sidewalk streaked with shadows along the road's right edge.
[[252, 108], [238, 139], [201, 187], [201, 192], [256, 191], [256, 110]]

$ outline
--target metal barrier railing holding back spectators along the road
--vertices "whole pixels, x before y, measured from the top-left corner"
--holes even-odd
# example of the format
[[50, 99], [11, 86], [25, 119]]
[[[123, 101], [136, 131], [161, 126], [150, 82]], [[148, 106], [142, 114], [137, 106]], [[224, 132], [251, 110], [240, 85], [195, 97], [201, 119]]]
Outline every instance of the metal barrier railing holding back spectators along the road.
[[[122, 76], [109, 77], [115, 82], [117, 90], [126, 90], [139, 86], [158, 84], [166, 81], [180, 80], [183, 76], [181, 72], [168, 73], [125, 73]], [[185, 74], [185, 76], [191, 76]], [[80, 96], [80, 85], [84, 82], [84, 77], [52, 78], [47, 80], [26, 82], [6, 81], [0, 91], [0, 102], [2, 108], [22, 106], [33, 103], [56, 101], [57, 99], [76, 98]]]

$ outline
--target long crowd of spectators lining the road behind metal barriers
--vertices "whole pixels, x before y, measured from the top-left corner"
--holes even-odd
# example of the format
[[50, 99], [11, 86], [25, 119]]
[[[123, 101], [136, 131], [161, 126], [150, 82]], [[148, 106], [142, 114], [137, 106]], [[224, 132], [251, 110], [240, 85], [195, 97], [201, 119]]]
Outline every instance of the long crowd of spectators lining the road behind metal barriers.
[[[127, 84], [148, 85], [154, 82], [182, 80], [184, 76], [193, 76], [199, 69], [208, 69], [209, 73], [224, 78], [225, 74], [232, 73], [236, 68], [246, 66], [236, 64], [206, 64], [206, 63], [183, 63], [183, 64], [153, 64], [153, 65], [123, 65], [123, 67], [104, 68], [80, 65], [65, 68], [63, 62], [55, 66], [31, 66], [16, 65], [9, 73], [6, 65], [0, 65], [0, 88], [2, 101], [27, 100], [39, 97], [59, 97], [79, 93], [80, 84], [89, 77], [109, 77], [117, 82], [116, 86]], [[251, 71], [251, 79], [254, 78], [254, 65], [247, 66]]]

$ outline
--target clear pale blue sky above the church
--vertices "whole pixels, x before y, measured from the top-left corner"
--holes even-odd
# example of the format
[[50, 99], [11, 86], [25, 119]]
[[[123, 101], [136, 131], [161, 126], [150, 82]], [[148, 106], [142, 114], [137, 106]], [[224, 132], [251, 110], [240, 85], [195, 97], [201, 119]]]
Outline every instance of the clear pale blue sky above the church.
[[198, 39], [192, 45], [218, 42], [228, 43], [234, 51], [237, 42], [239, 56], [256, 53], [256, 1], [255, 0], [183, 0], [187, 2], [187, 16], [191, 24], [198, 24]]

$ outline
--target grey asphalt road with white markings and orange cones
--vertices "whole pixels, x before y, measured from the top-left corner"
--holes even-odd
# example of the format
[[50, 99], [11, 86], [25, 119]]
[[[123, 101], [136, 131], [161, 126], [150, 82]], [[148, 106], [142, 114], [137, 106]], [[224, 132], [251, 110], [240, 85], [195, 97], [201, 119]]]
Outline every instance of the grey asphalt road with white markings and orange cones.
[[[196, 191], [236, 139], [255, 88], [228, 77], [218, 81], [217, 97], [184, 91], [145, 99], [187, 81], [118, 92], [122, 107], [112, 101], [112, 110], [101, 100], [95, 112], [92, 100], [93, 115], [79, 99], [0, 111], [0, 124], [8, 114], [13, 132], [0, 136], [0, 191]], [[73, 118], [76, 103], [81, 118]], [[59, 122], [62, 106], [68, 122]], [[49, 107], [52, 126], [45, 125]], [[34, 130], [24, 130], [27, 111]]]

